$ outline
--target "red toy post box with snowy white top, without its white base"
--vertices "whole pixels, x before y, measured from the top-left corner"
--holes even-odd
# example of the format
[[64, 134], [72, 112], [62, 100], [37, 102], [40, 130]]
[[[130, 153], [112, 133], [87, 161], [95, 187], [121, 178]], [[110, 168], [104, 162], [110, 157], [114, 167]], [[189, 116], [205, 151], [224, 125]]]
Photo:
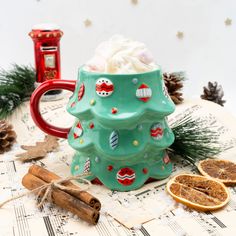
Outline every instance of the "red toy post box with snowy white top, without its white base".
[[33, 27], [29, 36], [34, 41], [35, 67], [38, 83], [60, 79], [60, 39], [63, 32], [51, 25]]

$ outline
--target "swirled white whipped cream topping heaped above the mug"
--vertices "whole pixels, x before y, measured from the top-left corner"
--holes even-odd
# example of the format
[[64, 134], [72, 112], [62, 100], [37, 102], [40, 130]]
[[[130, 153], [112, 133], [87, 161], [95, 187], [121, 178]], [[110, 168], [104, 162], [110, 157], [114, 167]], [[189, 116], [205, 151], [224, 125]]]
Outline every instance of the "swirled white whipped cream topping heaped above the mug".
[[87, 71], [109, 74], [134, 74], [157, 68], [145, 44], [121, 35], [102, 42], [85, 65]]

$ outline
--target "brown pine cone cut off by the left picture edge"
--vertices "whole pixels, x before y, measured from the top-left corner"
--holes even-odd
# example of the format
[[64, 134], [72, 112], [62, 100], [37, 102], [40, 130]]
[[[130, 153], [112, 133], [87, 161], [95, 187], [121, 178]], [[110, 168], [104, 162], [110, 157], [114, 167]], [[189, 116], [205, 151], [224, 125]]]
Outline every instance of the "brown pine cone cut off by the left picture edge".
[[0, 154], [9, 151], [15, 141], [16, 132], [13, 130], [12, 125], [0, 120]]

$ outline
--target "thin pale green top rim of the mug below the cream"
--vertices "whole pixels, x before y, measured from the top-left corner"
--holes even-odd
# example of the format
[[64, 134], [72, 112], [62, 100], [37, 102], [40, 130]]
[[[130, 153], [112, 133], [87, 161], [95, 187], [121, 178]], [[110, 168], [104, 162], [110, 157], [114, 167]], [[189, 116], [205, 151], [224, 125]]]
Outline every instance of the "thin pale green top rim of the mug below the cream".
[[124, 77], [124, 76], [142, 76], [142, 75], [149, 75], [149, 74], [155, 74], [156, 72], [161, 72], [161, 67], [157, 65], [157, 68], [151, 71], [141, 72], [141, 73], [130, 73], [130, 74], [112, 74], [112, 73], [103, 73], [103, 72], [94, 72], [94, 71], [88, 71], [85, 69], [85, 65], [82, 65], [79, 67], [79, 73], [89, 74], [89, 75], [95, 75], [95, 76], [115, 76], [115, 77]]

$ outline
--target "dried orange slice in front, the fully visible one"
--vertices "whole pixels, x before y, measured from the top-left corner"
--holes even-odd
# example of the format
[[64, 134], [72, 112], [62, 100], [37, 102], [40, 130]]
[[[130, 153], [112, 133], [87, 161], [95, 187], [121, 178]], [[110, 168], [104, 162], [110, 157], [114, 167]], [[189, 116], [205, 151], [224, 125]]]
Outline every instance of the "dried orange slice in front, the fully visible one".
[[219, 209], [230, 198], [223, 183], [201, 175], [177, 175], [169, 180], [166, 189], [176, 201], [200, 211]]

